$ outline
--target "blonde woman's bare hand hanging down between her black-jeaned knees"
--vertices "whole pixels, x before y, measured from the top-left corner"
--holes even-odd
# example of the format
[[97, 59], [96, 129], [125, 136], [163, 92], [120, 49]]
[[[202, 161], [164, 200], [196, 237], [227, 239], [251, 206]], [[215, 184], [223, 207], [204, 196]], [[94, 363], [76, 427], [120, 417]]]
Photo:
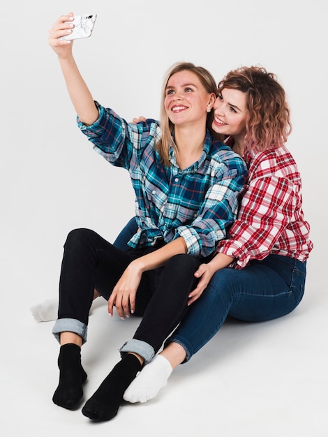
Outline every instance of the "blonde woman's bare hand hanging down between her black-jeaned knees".
[[116, 306], [117, 313], [121, 319], [130, 317], [135, 312], [135, 295], [141, 281], [142, 272], [131, 262], [124, 271], [117, 285], [108, 299], [108, 313], [113, 315], [113, 307]]

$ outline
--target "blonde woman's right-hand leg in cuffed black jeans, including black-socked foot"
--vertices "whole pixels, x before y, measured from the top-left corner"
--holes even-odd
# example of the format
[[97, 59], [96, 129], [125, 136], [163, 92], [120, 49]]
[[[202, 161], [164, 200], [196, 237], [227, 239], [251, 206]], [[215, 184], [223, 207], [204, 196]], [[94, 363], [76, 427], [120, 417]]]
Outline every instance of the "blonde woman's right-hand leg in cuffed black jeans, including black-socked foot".
[[[149, 288], [154, 290], [154, 295], [144, 311], [144, 317], [133, 339], [121, 348], [121, 362], [115, 366], [112, 371], [114, 373], [111, 372], [107, 376], [99, 391], [97, 390], [82, 410], [85, 415], [94, 420], [110, 420], [117, 414], [124, 391], [137, 374], [132, 362], [124, 364], [126, 359], [133, 353], [146, 362], [154, 357], [154, 353], [162, 346], [167, 335], [188, 310], [188, 295], [195, 288], [197, 279], [193, 274], [198, 265], [199, 262], [191, 255], [175, 255], [163, 269], [147, 272], [145, 276], [149, 281]], [[121, 376], [123, 373], [129, 376]], [[119, 388], [115, 382], [117, 380], [121, 381]]]

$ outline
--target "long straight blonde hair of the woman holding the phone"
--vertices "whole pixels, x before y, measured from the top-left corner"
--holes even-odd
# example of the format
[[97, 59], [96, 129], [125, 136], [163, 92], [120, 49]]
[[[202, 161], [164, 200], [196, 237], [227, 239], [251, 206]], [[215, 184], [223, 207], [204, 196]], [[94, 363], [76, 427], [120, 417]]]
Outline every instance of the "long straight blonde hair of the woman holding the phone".
[[[165, 110], [165, 91], [167, 88], [167, 82], [170, 80], [170, 77], [174, 75], [175, 73], [179, 73], [180, 71], [191, 71], [197, 75], [200, 82], [202, 83], [204, 89], [210, 94], [214, 93], [216, 94], [218, 91], [218, 87], [216, 84], [216, 81], [214, 80], [214, 77], [209, 73], [209, 71], [206, 70], [206, 68], [203, 67], [197, 67], [191, 62], [178, 62], [177, 64], [174, 64], [169, 71], [167, 71], [165, 75], [165, 79], [163, 82], [162, 87], [162, 96], [161, 96], [161, 139], [158, 140], [156, 144], [156, 148], [158, 149], [158, 153], [161, 156], [161, 160], [167, 167], [170, 165], [170, 146], [173, 148], [176, 148], [177, 146], [174, 144], [174, 141], [172, 139], [172, 129], [174, 124], [170, 121], [170, 119], [167, 117], [167, 112]], [[209, 128], [209, 131], [211, 132], [211, 135], [214, 136], [217, 139], [222, 140], [221, 136], [218, 136], [218, 134], [214, 133], [211, 129], [211, 123], [213, 121], [213, 110], [207, 114], [207, 128]]]

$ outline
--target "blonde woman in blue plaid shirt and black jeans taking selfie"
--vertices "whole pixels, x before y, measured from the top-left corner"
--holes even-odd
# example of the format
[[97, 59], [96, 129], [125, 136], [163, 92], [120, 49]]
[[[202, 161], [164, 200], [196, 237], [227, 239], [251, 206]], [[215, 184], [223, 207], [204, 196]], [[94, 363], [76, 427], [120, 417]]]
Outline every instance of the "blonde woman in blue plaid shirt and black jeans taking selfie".
[[[64, 246], [58, 319], [53, 334], [59, 351], [59, 385], [53, 401], [76, 408], [87, 379], [80, 350], [87, 341], [94, 289], [122, 319], [142, 321], [121, 347], [114, 366], [82, 413], [94, 421], [117, 414], [123, 394], [150, 362], [188, 310], [195, 270], [208, 260], [237, 216], [246, 165], [211, 135], [216, 82], [202, 67], [173, 66], [165, 77], [161, 123], [128, 124], [94, 101], [73, 57], [73, 43], [59, 39], [73, 29], [73, 14], [50, 29], [82, 133], [112, 165], [126, 168], [136, 195], [138, 230], [121, 251], [93, 230], [69, 233]], [[103, 188], [103, 187], [101, 187]]]

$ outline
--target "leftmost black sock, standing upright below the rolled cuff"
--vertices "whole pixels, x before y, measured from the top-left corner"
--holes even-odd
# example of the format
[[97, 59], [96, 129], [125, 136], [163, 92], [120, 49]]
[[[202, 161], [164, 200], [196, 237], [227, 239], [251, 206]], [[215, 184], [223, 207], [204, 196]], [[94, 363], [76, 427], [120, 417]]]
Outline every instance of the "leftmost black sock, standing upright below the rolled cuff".
[[73, 343], [60, 348], [58, 357], [59, 385], [54, 392], [52, 401], [57, 405], [73, 410], [82, 399], [82, 385], [87, 380], [81, 364], [81, 349]]

